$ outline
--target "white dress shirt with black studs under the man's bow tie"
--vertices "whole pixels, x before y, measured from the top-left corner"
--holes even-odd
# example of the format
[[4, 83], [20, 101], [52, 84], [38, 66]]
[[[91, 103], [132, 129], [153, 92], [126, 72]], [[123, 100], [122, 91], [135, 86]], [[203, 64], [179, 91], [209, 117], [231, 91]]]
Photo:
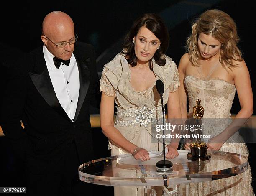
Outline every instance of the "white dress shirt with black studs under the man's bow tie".
[[80, 89], [79, 72], [74, 54], [72, 53], [69, 66], [61, 63], [57, 69], [53, 61], [54, 56], [45, 45], [43, 52], [55, 94], [62, 108], [74, 122]]

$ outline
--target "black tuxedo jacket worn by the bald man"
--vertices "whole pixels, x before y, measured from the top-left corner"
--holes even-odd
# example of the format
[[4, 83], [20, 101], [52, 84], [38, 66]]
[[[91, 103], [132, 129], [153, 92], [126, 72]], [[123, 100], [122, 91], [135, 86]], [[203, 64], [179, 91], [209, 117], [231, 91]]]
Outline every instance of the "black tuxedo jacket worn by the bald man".
[[93, 158], [89, 105], [100, 104], [95, 53], [91, 45], [77, 42], [74, 56], [80, 79], [74, 122], [56, 97], [42, 47], [20, 60], [8, 81], [1, 127], [36, 172], [61, 170], [64, 148], [72, 141], [81, 164]]

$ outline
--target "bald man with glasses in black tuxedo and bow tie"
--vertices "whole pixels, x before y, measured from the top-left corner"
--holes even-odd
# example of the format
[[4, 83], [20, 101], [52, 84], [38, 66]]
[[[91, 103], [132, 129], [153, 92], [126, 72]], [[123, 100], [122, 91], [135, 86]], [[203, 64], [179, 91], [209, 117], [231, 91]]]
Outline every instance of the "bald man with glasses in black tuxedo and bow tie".
[[95, 53], [77, 42], [72, 19], [60, 11], [44, 18], [41, 40], [13, 72], [1, 126], [25, 160], [29, 195], [92, 195], [78, 166], [93, 158], [89, 105], [100, 100]]

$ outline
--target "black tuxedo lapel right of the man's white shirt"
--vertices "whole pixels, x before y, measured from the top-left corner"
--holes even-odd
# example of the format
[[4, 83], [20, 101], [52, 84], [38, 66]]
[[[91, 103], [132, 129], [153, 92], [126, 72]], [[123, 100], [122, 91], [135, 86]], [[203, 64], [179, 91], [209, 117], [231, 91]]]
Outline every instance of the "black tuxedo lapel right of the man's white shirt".
[[76, 57], [78, 71], [79, 71], [79, 80], [80, 80], [80, 89], [79, 89], [79, 97], [77, 102], [77, 110], [74, 117], [74, 122], [77, 120], [79, 112], [81, 110], [82, 104], [84, 103], [84, 98], [87, 94], [89, 84], [90, 84], [90, 70], [87, 67], [87, 63], [90, 62], [90, 58], [87, 58], [85, 61], [80, 61]]

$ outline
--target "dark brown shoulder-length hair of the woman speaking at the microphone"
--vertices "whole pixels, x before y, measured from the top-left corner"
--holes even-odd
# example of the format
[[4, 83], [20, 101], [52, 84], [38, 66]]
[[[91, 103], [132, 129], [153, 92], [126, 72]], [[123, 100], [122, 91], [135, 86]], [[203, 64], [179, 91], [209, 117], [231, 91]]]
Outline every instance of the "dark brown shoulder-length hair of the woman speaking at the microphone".
[[[156, 61], [156, 64], [159, 66], [164, 66], [166, 64], [164, 53], [167, 51], [169, 45], [169, 33], [168, 29], [164, 25], [164, 21], [154, 13], [146, 13], [133, 23], [130, 31], [124, 39], [123, 51], [121, 53], [125, 54], [125, 58], [127, 59], [128, 64], [131, 66], [137, 65], [137, 57], [134, 51], [133, 38], [137, 35], [138, 31], [143, 26], [154, 33], [154, 35], [160, 40], [161, 47], [156, 50], [153, 58]], [[152, 70], [152, 59], [149, 62], [149, 66]]]

